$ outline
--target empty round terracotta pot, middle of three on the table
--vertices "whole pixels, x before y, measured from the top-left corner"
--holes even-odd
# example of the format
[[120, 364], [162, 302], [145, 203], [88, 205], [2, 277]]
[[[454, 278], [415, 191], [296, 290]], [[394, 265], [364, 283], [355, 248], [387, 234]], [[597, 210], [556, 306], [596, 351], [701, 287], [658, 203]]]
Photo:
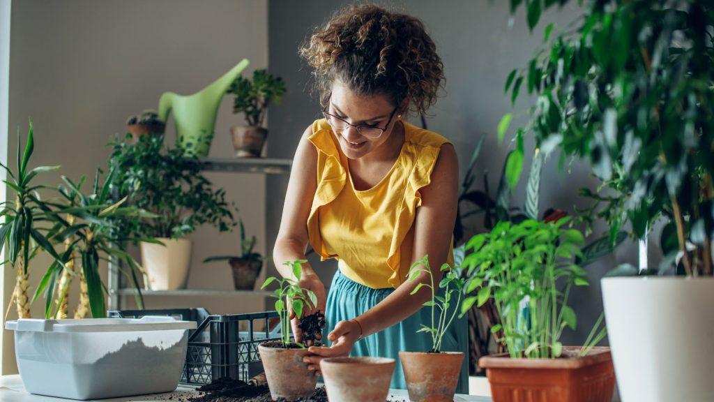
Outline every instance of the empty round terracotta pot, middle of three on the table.
[[326, 358], [320, 362], [330, 401], [386, 401], [393, 358]]

